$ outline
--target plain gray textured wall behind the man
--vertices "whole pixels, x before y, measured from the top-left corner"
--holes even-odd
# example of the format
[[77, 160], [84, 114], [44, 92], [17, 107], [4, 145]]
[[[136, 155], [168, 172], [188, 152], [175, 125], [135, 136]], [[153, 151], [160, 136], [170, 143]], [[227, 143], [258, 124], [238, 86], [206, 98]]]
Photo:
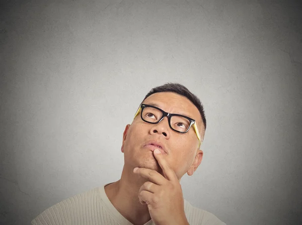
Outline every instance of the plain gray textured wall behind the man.
[[208, 128], [182, 185], [231, 225], [301, 224], [300, 1], [2, 1], [0, 223], [120, 177], [122, 132], [180, 82]]

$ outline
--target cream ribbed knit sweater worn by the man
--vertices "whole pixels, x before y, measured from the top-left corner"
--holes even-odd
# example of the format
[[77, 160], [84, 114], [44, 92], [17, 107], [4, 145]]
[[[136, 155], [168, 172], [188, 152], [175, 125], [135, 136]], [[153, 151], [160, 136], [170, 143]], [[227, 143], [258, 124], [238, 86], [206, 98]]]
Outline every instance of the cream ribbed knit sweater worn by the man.
[[[107, 185], [107, 184], [106, 184]], [[32, 225], [133, 225], [111, 204], [105, 186], [67, 198], [43, 211]], [[190, 225], [225, 225], [215, 215], [193, 207], [184, 200], [185, 213]], [[155, 225], [149, 220], [144, 225]]]

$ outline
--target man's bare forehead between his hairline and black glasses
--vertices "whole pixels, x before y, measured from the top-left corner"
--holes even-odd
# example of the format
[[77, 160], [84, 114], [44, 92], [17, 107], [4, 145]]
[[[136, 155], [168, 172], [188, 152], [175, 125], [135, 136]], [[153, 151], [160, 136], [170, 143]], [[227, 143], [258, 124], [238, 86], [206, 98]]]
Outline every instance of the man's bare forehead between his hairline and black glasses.
[[173, 92], [158, 92], [148, 96], [143, 103], [156, 104], [168, 113], [181, 114], [201, 123], [197, 107], [186, 97]]

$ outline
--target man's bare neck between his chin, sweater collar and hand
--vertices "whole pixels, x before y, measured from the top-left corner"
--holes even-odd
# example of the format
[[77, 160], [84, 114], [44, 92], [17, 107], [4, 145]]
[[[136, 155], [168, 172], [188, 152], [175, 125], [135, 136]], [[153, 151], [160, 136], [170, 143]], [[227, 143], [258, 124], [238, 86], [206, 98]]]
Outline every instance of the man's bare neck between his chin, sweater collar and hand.
[[113, 206], [132, 224], [141, 225], [151, 219], [146, 204], [138, 199], [138, 190], [147, 180], [133, 173], [124, 165], [121, 179], [105, 186], [105, 192]]

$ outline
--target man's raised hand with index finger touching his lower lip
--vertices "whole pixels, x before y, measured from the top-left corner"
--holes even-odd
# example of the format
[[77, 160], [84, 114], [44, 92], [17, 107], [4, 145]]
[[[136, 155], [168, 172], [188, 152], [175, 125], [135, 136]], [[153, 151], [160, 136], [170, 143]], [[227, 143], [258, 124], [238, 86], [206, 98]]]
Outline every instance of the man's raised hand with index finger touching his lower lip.
[[189, 224], [181, 185], [175, 172], [158, 149], [153, 154], [165, 177], [155, 170], [134, 168], [134, 173], [149, 179], [138, 191], [140, 203], [147, 204], [150, 216], [157, 225]]

